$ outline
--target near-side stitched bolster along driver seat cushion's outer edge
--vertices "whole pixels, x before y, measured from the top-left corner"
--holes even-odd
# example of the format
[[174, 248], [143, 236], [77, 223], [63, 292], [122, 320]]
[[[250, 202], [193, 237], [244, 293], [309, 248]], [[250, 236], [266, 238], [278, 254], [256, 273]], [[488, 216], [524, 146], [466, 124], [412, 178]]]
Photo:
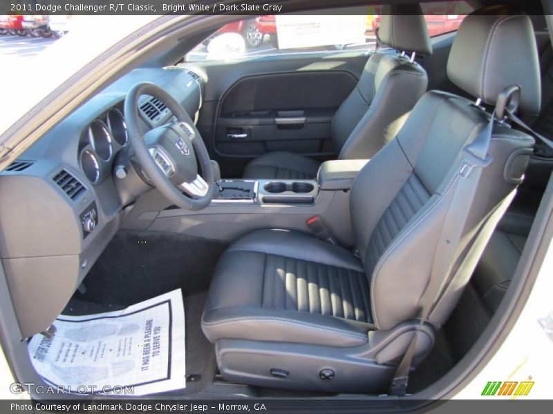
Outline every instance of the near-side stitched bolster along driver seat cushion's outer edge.
[[206, 309], [203, 332], [217, 339], [250, 339], [296, 344], [358, 346], [368, 342], [372, 324], [315, 313], [234, 306]]

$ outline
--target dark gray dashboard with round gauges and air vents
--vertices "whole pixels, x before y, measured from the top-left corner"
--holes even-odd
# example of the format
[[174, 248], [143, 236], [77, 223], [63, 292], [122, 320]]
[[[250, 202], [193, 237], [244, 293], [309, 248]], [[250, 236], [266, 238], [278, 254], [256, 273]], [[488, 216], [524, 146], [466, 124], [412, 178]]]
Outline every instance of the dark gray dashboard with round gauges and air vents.
[[[165, 89], [196, 118], [203, 77], [182, 67], [138, 68], [0, 173], [0, 257], [23, 337], [48, 328], [119, 228], [128, 204], [114, 175], [129, 153], [124, 99], [143, 81]], [[144, 132], [174, 120], [154, 97], [141, 97], [138, 106]]]

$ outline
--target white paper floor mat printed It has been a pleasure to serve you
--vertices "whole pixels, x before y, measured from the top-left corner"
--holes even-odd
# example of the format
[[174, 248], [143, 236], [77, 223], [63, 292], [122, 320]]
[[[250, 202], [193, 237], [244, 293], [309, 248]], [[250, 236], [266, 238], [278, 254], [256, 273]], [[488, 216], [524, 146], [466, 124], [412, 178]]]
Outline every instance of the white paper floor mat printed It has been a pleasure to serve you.
[[59, 315], [51, 337], [28, 344], [32, 364], [70, 393], [149, 395], [186, 386], [180, 289], [121, 311]]

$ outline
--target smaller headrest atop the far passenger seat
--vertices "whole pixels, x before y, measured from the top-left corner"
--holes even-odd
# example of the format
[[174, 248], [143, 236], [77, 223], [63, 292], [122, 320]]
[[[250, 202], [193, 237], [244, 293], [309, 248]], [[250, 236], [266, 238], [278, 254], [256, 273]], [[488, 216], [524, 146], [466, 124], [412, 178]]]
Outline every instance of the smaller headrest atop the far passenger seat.
[[432, 55], [427, 22], [416, 3], [383, 6], [378, 38], [397, 50]]

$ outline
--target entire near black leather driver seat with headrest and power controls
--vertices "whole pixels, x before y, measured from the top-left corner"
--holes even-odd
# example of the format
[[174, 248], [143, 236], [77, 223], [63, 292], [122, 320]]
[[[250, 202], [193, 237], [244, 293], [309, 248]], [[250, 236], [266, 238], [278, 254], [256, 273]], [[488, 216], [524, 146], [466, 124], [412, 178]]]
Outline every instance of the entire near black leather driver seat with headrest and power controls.
[[[469, 15], [447, 70], [451, 81], [489, 105], [505, 87], [521, 86], [519, 108], [539, 111], [538, 54], [526, 15]], [[451, 208], [448, 192], [462, 177], [462, 150], [489, 116], [474, 101], [427, 92], [397, 137], [355, 179], [355, 250], [290, 230], [257, 230], [229, 246], [202, 317], [223, 377], [281, 388], [386, 391], [419, 326]], [[468, 218], [455, 265], [443, 275], [440, 301], [420, 328], [413, 365], [431, 350], [434, 331], [456, 306], [522, 181], [533, 145], [529, 135], [494, 124], [487, 152], [493, 161], [482, 169], [476, 197], [463, 206]]]

